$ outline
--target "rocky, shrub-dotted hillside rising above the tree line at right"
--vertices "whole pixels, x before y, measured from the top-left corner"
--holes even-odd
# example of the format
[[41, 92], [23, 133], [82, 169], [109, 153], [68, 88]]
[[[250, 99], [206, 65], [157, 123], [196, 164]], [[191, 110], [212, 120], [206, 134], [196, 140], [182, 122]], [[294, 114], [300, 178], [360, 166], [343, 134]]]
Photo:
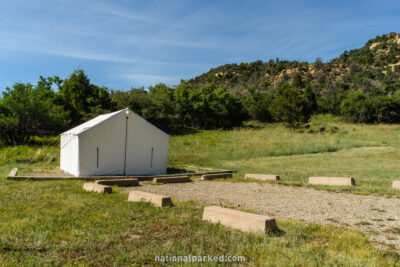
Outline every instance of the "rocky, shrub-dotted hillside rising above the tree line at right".
[[392, 94], [400, 89], [400, 34], [389, 33], [365, 46], [323, 63], [269, 60], [227, 64], [213, 68], [190, 83], [224, 85], [230, 92], [246, 94], [247, 87], [273, 93], [285, 83], [299, 89], [311, 86], [317, 97], [329, 98], [349, 90], [366, 95]]

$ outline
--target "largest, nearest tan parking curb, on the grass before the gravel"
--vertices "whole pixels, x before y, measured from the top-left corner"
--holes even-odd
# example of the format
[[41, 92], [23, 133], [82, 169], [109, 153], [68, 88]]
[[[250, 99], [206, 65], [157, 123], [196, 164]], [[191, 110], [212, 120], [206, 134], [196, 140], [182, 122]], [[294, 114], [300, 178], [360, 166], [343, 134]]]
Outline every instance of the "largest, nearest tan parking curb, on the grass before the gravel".
[[271, 232], [278, 230], [274, 218], [219, 206], [205, 207], [203, 221], [221, 223], [245, 232]]

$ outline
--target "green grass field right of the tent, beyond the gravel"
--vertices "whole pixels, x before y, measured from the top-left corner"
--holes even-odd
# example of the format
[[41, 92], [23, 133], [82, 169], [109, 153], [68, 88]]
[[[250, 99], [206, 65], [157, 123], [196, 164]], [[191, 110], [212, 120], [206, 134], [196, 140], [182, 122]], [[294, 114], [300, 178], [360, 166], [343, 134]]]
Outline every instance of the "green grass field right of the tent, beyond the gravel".
[[316, 188], [400, 196], [391, 188], [400, 179], [400, 126], [317, 116], [302, 133], [276, 124], [201, 131], [173, 136], [169, 163], [236, 170], [239, 181], [245, 173], [276, 174], [288, 185], [307, 185], [309, 176], [354, 177], [355, 187]]

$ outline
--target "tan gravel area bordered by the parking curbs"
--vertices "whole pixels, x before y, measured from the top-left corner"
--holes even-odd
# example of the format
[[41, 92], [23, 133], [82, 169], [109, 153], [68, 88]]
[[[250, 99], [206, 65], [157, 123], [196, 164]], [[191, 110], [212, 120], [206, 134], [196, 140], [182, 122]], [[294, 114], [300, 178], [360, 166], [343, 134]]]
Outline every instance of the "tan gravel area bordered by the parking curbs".
[[367, 234], [378, 247], [400, 252], [400, 199], [318, 191], [267, 183], [195, 181], [149, 185], [130, 190], [169, 195], [179, 200], [257, 210], [277, 219], [339, 225]]

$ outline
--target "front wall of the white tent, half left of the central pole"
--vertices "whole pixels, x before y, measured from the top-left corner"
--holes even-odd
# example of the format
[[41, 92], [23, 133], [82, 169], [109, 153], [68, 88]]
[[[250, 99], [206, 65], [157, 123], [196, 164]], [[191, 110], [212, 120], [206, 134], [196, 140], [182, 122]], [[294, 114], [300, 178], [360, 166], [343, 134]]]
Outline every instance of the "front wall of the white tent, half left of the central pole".
[[79, 135], [79, 175], [122, 175], [125, 116], [123, 112]]

